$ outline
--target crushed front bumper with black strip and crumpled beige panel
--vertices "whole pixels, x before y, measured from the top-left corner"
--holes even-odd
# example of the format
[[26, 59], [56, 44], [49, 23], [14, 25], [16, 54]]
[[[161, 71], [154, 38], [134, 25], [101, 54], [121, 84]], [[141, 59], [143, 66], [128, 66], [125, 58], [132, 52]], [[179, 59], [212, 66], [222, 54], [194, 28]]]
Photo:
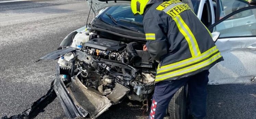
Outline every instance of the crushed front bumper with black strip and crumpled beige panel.
[[56, 66], [56, 79], [53, 86], [64, 113], [69, 119], [76, 117], [97, 118], [112, 105], [107, 97], [85, 87], [77, 77], [72, 79], [66, 88], [60, 78], [59, 65]]

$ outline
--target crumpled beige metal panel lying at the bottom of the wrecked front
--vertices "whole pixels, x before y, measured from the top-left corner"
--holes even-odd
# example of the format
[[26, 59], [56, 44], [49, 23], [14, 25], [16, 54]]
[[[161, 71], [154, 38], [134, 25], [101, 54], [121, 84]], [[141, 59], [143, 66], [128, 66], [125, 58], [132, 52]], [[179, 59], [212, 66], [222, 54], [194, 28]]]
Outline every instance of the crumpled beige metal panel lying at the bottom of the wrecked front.
[[74, 103], [88, 111], [91, 117], [94, 117], [105, 107], [110, 107], [109, 105], [111, 104], [107, 97], [90, 91], [77, 77], [68, 87], [68, 92]]

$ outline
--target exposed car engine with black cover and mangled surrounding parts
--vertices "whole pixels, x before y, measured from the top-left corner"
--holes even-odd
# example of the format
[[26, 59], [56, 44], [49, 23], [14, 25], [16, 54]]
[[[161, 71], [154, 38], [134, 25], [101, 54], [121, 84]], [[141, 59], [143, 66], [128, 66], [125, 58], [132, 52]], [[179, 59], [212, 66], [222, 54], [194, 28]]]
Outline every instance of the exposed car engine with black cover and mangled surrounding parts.
[[82, 84], [114, 104], [125, 95], [130, 100], [148, 100], [154, 90], [156, 63], [148, 51], [142, 51], [142, 44], [93, 38], [76, 46], [80, 50], [59, 59], [63, 80], [70, 78], [65, 74], [73, 69]]

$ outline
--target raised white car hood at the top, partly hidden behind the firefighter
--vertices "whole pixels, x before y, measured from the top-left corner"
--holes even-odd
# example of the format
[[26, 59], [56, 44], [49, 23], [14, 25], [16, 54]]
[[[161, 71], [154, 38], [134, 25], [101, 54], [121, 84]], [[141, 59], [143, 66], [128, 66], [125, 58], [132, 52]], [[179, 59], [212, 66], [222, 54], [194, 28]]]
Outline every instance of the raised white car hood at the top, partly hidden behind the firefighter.
[[[99, 12], [102, 9], [105, 9], [110, 6], [130, 5], [130, 1], [131, 0], [86, 0], [86, 3], [89, 6], [89, 8], [91, 7], [94, 14], [99, 14]], [[192, 9], [192, 11], [194, 11], [191, 0], [182, 0], [182, 2], [187, 3]]]

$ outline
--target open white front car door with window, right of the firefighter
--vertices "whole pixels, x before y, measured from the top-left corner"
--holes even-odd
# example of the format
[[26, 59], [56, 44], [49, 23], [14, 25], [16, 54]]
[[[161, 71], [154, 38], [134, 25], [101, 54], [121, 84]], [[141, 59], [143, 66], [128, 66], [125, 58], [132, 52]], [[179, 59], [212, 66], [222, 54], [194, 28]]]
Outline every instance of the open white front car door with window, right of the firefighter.
[[256, 6], [237, 10], [209, 27], [225, 61], [210, 69], [209, 84], [249, 83], [256, 76]]

